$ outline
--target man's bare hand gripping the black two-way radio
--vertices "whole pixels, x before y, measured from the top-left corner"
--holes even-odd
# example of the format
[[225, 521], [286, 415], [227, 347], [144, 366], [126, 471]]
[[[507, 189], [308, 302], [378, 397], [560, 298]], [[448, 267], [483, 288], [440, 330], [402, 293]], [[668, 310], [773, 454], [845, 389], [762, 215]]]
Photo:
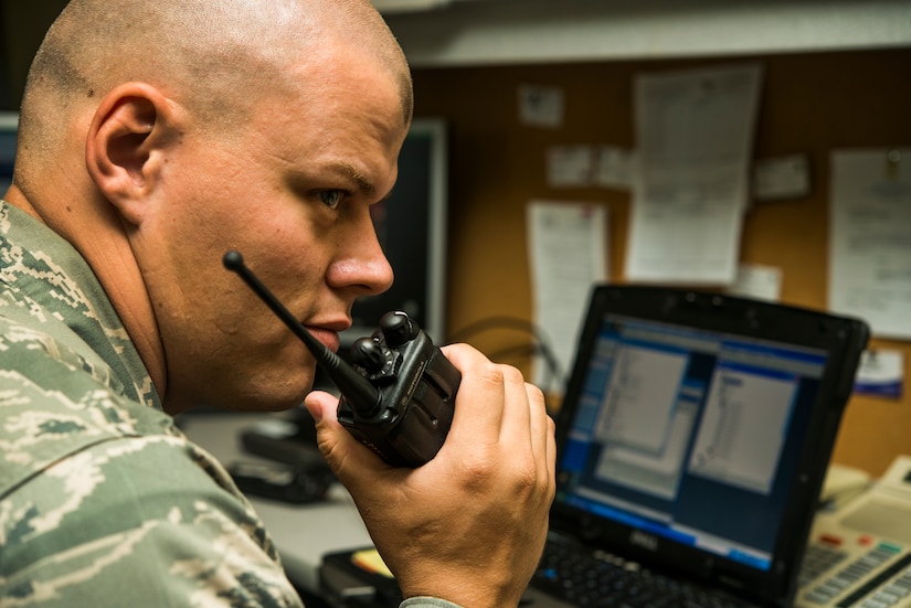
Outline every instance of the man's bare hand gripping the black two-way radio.
[[534, 572], [555, 491], [553, 420], [518, 370], [456, 344], [462, 372], [453, 426], [436, 457], [392, 468], [336, 419], [337, 401], [311, 393], [319, 448], [351, 492], [404, 597], [470, 608], [516, 606]]

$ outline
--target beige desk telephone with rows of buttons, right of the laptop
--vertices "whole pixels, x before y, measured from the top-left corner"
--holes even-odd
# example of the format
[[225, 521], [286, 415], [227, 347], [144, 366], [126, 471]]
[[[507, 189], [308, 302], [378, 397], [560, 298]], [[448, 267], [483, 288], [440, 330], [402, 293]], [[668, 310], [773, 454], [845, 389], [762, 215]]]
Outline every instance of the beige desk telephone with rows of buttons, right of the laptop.
[[876, 481], [833, 465], [823, 489], [795, 605], [911, 608], [911, 457]]

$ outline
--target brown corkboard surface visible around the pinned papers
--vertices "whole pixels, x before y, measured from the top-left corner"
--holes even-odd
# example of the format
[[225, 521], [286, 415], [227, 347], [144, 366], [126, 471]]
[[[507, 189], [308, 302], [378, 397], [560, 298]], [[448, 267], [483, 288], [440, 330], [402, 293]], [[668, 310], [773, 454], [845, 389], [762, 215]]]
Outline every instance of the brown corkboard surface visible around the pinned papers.
[[[416, 114], [442, 116], [451, 125], [449, 334], [491, 317], [531, 318], [525, 213], [532, 199], [603, 204], [610, 216], [611, 276], [623, 281], [628, 194], [549, 188], [547, 148], [632, 148], [636, 74], [740, 61], [764, 66], [755, 158], [806, 154], [813, 180], [805, 199], [750, 211], [741, 259], [782, 269], [782, 301], [825, 308], [830, 152], [911, 145], [911, 49], [414, 70]], [[561, 128], [520, 125], [517, 88], [522, 84], [565, 92]], [[487, 353], [512, 352], [526, 338], [513, 328], [473, 337]], [[872, 346], [901, 350], [905, 376], [911, 376], [911, 342], [875, 339]], [[528, 359], [502, 356], [530, 371]], [[851, 398], [835, 461], [879, 474], [897, 454], [911, 454], [911, 388], [898, 401]]]

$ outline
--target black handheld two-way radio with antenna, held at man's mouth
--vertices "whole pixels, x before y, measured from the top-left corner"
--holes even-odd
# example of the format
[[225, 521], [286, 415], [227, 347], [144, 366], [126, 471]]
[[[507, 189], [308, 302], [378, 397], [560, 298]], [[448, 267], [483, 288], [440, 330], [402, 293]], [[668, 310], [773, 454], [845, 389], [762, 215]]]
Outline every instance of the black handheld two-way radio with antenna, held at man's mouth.
[[352, 345], [350, 366], [279, 302], [227, 252], [224, 266], [240, 275], [297, 335], [341, 392], [339, 422], [389, 463], [420, 467], [439, 451], [453, 419], [462, 375], [404, 312], [389, 312], [372, 337]]

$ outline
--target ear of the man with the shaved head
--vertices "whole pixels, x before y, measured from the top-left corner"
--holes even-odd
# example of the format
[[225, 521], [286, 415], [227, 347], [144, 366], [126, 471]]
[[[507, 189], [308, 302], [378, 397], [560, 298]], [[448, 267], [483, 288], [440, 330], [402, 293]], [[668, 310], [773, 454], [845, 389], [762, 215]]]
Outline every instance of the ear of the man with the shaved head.
[[130, 224], [142, 222], [169, 142], [174, 140], [169, 100], [146, 83], [110, 90], [92, 119], [85, 142], [88, 173]]

